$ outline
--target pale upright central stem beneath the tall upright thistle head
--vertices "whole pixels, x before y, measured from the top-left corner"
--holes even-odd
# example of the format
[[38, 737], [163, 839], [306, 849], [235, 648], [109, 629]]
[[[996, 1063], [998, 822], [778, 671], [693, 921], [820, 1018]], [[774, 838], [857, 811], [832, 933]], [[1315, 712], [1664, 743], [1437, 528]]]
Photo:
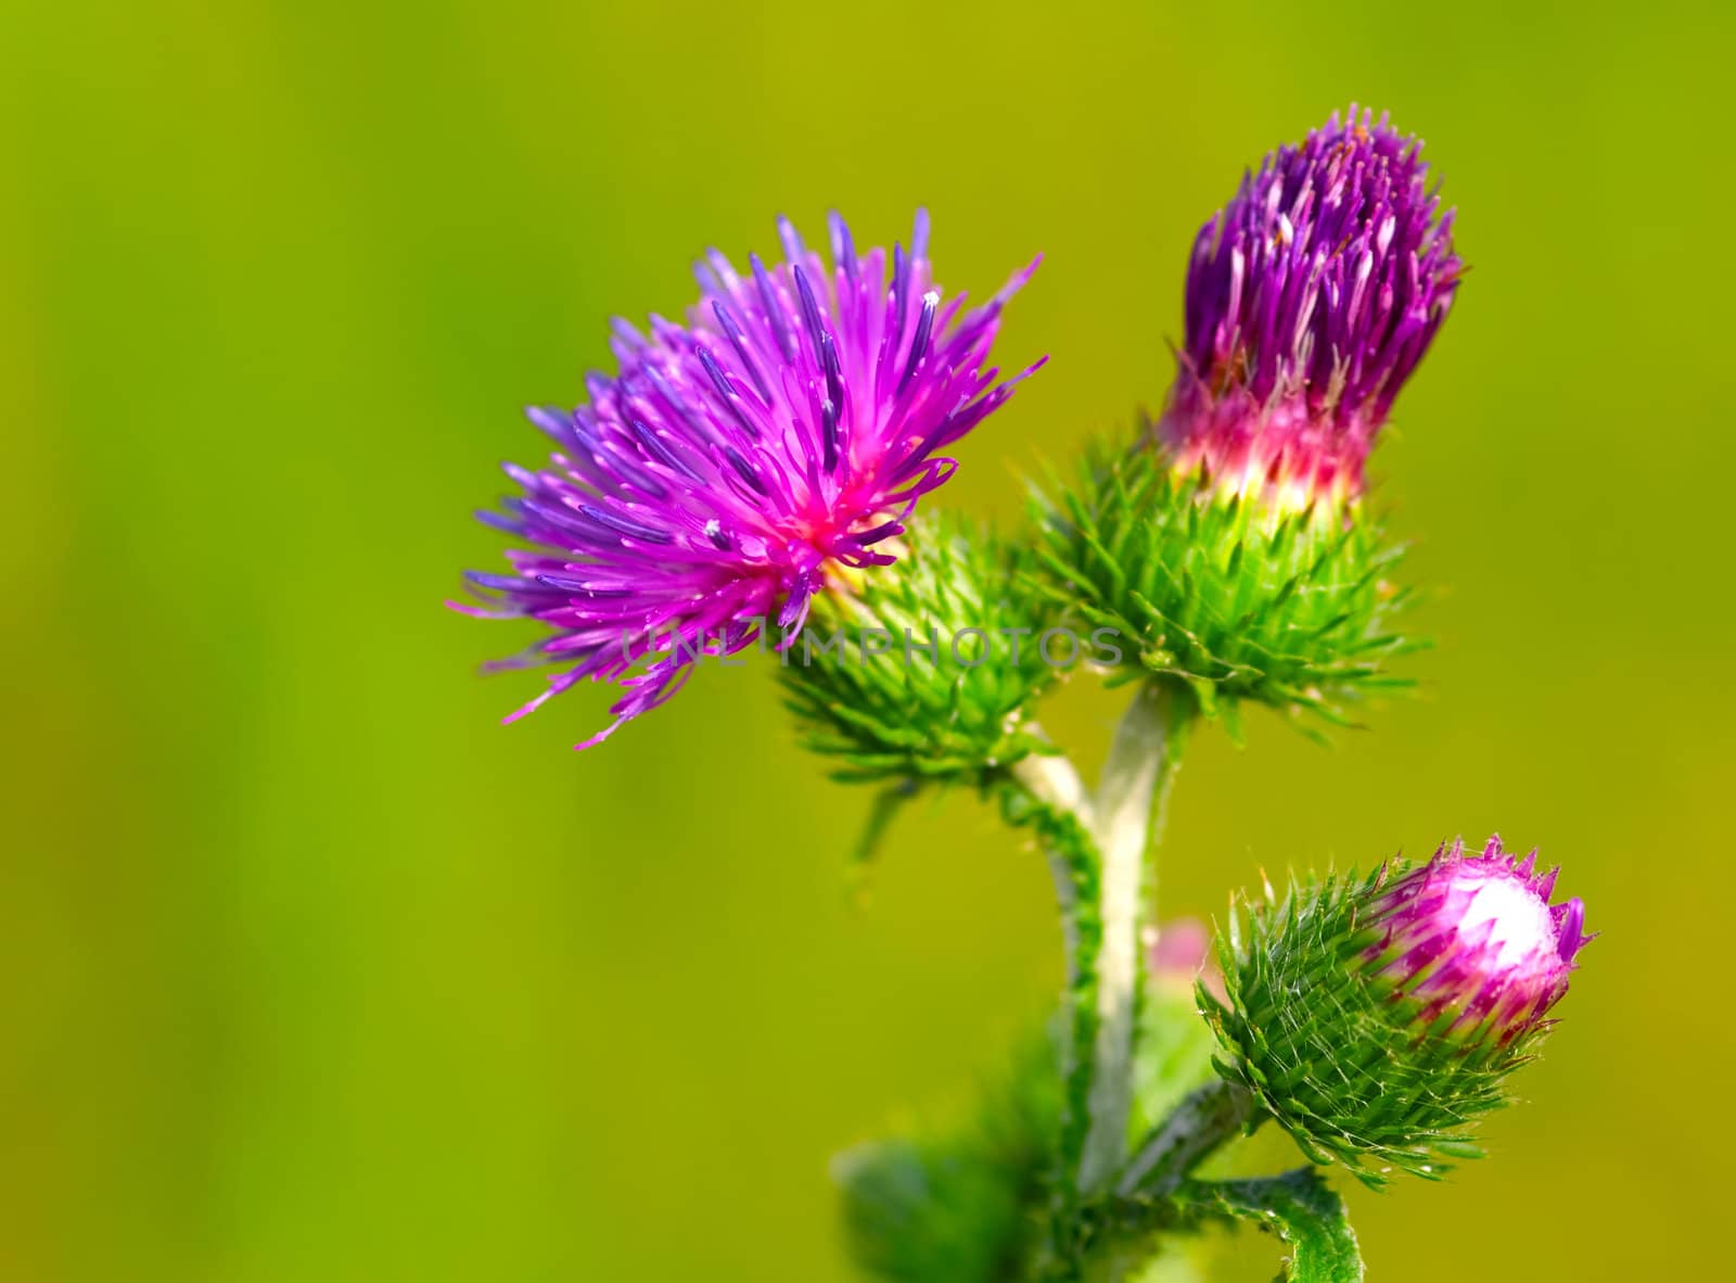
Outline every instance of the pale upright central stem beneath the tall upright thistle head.
[[1168, 811], [1191, 696], [1149, 682], [1128, 705], [1109, 745], [1092, 828], [1102, 851], [1102, 948], [1097, 953], [1097, 1040], [1092, 1056], [1090, 1130], [1078, 1182], [1101, 1189], [1127, 1158], [1134, 1095], [1134, 1016], [1146, 870]]

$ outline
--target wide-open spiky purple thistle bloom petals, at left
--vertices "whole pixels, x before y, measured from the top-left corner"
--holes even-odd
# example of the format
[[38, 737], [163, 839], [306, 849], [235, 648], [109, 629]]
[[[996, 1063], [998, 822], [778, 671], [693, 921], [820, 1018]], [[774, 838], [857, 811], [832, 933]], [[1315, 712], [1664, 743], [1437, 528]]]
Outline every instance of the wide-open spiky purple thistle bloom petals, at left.
[[995, 384], [984, 368], [1007, 299], [941, 306], [929, 215], [910, 252], [858, 255], [833, 214], [832, 264], [778, 220], [785, 260], [746, 274], [712, 250], [694, 264], [703, 297], [649, 335], [615, 321], [615, 377], [585, 378], [589, 403], [533, 408], [556, 443], [538, 472], [507, 464], [523, 490], [477, 517], [531, 545], [510, 575], [469, 571], [479, 618], [535, 618], [556, 634], [490, 668], [561, 665], [514, 720], [578, 681], [628, 693], [615, 722], [656, 708], [703, 655], [750, 646], [767, 622], [783, 642], [840, 573], [894, 561], [917, 500], [951, 477], [941, 451], [1036, 370]]

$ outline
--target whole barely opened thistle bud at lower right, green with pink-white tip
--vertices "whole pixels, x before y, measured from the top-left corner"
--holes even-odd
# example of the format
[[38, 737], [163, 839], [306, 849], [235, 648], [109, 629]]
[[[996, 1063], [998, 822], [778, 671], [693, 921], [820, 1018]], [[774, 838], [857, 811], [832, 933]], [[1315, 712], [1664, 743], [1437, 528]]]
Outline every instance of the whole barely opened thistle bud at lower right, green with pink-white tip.
[[1227, 998], [1198, 997], [1246, 1087], [1316, 1161], [1370, 1184], [1399, 1167], [1439, 1175], [1477, 1151], [1465, 1127], [1505, 1104], [1587, 943], [1555, 873], [1489, 839], [1417, 868], [1330, 877], [1231, 918]]

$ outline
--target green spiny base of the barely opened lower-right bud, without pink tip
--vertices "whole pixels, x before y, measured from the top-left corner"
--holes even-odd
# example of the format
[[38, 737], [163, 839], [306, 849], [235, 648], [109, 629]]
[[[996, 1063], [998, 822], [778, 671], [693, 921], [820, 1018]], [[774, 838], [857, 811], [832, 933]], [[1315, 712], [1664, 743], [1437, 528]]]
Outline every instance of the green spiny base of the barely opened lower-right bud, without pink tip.
[[1455, 1024], [1458, 1012], [1382, 969], [1384, 929], [1370, 922], [1403, 875], [1328, 875], [1293, 882], [1281, 903], [1267, 887], [1264, 903], [1233, 905], [1219, 939], [1226, 1000], [1196, 990], [1226, 1052], [1219, 1073], [1312, 1161], [1337, 1160], [1375, 1188], [1394, 1167], [1437, 1179], [1443, 1160], [1476, 1158], [1469, 1127], [1507, 1104], [1503, 1080], [1535, 1059], [1549, 1028], [1498, 1036]]

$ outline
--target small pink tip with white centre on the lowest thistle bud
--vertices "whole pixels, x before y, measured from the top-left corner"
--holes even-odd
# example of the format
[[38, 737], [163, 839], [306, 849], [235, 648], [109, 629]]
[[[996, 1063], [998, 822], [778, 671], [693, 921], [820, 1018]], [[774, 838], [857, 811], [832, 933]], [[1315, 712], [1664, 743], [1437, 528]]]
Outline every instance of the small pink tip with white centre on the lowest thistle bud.
[[1568, 991], [1585, 905], [1550, 906], [1555, 873], [1536, 872], [1491, 837], [1481, 856], [1443, 845], [1422, 868], [1384, 887], [1363, 925], [1378, 939], [1363, 953], [1394, 998], [1422, 1003], [1418, 1019], [1451, 1036], [1500, 1043], [1535, 1030]]

